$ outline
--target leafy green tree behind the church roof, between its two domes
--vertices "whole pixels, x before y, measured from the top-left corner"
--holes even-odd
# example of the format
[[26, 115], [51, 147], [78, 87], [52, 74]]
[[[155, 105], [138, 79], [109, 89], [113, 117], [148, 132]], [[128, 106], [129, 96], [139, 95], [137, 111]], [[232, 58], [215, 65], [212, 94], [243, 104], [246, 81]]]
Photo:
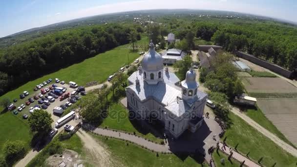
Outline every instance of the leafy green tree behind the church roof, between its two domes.
[[187, 55], [183, 60], [177, 61], [173, 64], [173, 68], [177, 71], [177, 76], [180, 80], [184, 80], [186, 78], [186, 73], [191, 68], [192, 62], [192, 58]]

